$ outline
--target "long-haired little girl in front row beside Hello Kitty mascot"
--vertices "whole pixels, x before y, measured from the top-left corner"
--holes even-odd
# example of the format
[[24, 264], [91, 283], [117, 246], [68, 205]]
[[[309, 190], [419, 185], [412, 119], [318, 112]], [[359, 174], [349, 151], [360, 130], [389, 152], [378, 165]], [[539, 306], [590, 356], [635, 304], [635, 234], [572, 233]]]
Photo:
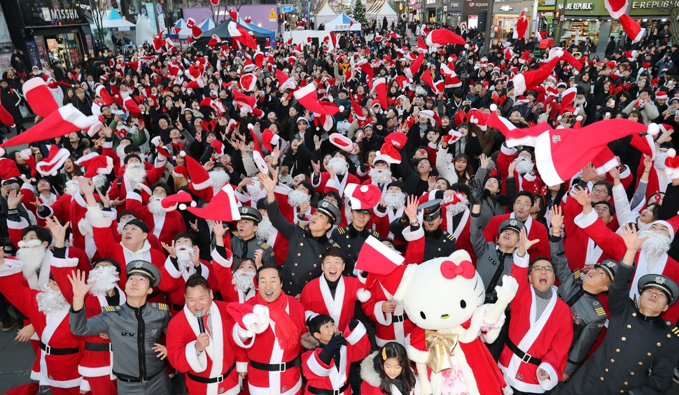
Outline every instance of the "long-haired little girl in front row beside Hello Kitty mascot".
[[360, 363], [362, 395], [419, 395], [417, 376], [405, 347], [389, 342]]

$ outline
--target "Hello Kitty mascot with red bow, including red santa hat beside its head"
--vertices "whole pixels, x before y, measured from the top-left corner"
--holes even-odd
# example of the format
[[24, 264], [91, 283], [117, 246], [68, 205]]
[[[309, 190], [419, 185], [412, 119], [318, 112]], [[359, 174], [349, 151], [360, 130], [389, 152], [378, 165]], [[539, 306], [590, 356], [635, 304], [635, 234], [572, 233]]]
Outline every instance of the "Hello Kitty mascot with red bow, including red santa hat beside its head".
[[498, 337], [517, 281], [505, 275], [496, 288], [498, 301], [484, 304], [485, 287], [468, 252], [458, 250], [419, 265], [403, 265], [403, 260], [370, 236], [356, 268], [374, 275], [416, 325], [405, 347], [415, 362], [421, 393], [512, 394], [482, 341]]

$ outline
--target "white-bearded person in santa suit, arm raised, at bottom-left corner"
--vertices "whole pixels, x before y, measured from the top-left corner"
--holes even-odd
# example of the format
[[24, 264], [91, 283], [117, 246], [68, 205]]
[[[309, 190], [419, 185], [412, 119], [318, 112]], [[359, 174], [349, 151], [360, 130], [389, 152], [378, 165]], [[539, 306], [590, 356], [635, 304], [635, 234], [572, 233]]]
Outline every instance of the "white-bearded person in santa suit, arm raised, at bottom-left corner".
[[27, 315], [40, 339], [31, 379], [49, 386], [55, 395], [78, 394], [82, 339], [71, 333], [69, 302], [55, 280], [49, 279], [39, 291], [23, 285], [22, 271], [22, 261], [0, 257], [0, 292]]

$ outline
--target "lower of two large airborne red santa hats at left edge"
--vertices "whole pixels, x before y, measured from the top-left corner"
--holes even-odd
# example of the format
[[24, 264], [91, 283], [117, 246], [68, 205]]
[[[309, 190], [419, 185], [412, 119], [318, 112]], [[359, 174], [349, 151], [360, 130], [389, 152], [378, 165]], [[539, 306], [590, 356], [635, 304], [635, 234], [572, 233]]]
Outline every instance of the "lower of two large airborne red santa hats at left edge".
[[[31, 106], [31, 108], [33, 108]], [[102, 127], [102, 122], [94, 115], [89, 117], [80, 113], [69, 103], [58, 108], [53, 113], [38, 122], [34, 127], [22, 134], [18, 134], [8, 141], [0, 144], [0, 156], [5, 154], [4, 147], [34, 143], [36, 141], [49, 140], [50, 138], [66, 136], [72, 131], [89, 129], [96, 133]]]

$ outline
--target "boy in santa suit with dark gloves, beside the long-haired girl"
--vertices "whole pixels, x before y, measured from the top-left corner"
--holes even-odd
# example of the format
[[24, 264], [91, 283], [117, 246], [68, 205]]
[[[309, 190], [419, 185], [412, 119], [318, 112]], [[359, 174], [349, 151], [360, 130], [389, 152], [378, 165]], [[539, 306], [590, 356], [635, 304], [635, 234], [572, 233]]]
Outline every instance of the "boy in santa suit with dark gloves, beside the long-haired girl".
[[[340, 326], [342, 327], [342, 326]], [[339, 332], [335, 319], [321, 314], [309, 320], [309, 331], [302, 335], [302, 372], [308, 394], [349, 394], [349, 366], [370, 352], [365, 326], [351, 319]], [[353, 387], [353, 386], [352, 386]]]

